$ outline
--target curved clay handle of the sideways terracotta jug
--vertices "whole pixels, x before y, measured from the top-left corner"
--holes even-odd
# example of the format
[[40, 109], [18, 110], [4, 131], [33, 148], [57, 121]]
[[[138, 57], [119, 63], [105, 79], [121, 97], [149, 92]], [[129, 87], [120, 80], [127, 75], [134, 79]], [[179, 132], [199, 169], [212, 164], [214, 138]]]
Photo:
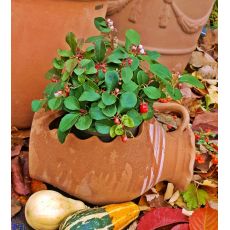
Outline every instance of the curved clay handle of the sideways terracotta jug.
[[187, 109], [183, 105], [180, 105], [174, 102], [168, 102], [168, 103], [155, 102], [153, 104], [153, 108], [155, 110], [158, 110], [159, 112], [170, 111], [170, 112], [180, 113], [182, 116], [182, 123], [180, 127], [178, 127], [178, 130], [184, 131], [188, 127], [190, 116], [189, 116]]

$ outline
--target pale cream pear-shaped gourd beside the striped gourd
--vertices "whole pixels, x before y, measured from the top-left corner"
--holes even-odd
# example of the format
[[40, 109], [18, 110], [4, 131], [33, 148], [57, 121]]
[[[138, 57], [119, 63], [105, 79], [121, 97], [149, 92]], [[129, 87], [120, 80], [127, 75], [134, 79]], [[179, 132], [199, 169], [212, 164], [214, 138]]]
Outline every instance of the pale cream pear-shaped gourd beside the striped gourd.
[[72, 213], [87, 206], [52, 190], [34, 193], [25, 206], [25, 217], [35, 230], [58, 229], [60, 223]]

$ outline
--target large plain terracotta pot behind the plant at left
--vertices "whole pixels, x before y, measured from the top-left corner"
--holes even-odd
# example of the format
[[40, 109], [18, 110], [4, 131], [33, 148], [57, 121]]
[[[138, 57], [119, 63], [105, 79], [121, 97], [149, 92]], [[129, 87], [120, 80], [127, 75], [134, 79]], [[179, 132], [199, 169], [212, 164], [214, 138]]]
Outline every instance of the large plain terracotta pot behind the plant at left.
[[12, 0], [12, 125], [31, 126], [31, 101], [42, 98], [45, 73], [65, 36], [98, 34], [94, 18], [105, 16], [105, 0]]

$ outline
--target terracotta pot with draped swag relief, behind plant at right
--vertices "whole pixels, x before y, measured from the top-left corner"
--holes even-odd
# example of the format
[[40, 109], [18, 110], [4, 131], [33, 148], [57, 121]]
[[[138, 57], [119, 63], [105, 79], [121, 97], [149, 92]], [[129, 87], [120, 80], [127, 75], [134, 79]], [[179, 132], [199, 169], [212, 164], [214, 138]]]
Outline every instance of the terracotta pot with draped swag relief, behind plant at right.
[[215, 0], [109, 0], [107, 16], [125, 40], [127, 29], [141, 34], [145, 49], [161, 54], [159, 62], [182, 72], [211, 13]]

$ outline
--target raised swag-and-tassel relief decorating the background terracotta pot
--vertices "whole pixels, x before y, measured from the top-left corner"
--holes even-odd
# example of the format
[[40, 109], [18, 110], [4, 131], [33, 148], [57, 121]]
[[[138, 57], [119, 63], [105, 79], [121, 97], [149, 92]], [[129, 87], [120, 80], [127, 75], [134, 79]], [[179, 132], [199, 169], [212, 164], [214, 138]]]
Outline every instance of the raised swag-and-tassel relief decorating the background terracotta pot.
[[[176, 4], [173, 0], [162, 0], [164, 5], [161, 9], [161, 14], [159, 16], [159, 27], [160, 28], [167, 28], [169, 19], [171, 16], [170, 8], [172, 9], [175, 17], [177, 18], [177, 22], [181, 29], [188, 34], [193, 34], [198, 32], [207, 22], [208, 17], [211, 13], [212, 8], [204, 15], [202, 18], [199, 19], [192, 19], [187, 16], [180, 7]], [[142, 14], [142, 5], [144, 4], [143, 0], [119, 0], [114, 1], [110, 0], [108, 2], [108, 10], [107, 15], [110, 16], [116, 12], [119, 12], [123, 7], [125, 7], [128, 3], [133, 2], [130, 14], [129, 14], [129, 21], [136, 23], [137, 18]]]

